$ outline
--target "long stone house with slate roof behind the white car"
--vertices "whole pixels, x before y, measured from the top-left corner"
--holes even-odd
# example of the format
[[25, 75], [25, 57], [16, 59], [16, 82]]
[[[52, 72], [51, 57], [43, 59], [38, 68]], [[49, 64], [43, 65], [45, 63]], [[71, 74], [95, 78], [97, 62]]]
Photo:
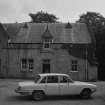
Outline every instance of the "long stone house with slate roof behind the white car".
[[0, 24], [0, 77], [54, 72], [97, 80], [92, 37], [83, 23]]

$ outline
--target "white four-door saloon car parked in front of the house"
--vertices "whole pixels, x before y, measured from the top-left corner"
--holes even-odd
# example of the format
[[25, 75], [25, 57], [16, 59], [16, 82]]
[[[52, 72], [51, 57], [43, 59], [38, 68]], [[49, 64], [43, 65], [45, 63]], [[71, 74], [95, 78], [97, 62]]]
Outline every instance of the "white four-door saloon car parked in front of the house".
[[32, 95], [42, 100], [45, 95], [80, 95], [89, 98], [96, 91], [96, 85], [73, 81], [69, 75], [60, 73], [38, 74], [33, 81], [19, 82], [16, 93]]

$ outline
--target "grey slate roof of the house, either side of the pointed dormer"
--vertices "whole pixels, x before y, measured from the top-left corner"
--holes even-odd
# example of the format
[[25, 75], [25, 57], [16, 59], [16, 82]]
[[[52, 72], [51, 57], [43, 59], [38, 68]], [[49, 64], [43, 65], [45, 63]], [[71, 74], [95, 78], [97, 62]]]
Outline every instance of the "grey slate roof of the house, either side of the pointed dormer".
[[48, 25], [48, 31], [54, 43], [91, 43], [87, 26], [83, 23], [71, 23], [72, 28], [65, 28], [68, 23], [15, 23], [3, 24], [13, 43], [40, 43]]

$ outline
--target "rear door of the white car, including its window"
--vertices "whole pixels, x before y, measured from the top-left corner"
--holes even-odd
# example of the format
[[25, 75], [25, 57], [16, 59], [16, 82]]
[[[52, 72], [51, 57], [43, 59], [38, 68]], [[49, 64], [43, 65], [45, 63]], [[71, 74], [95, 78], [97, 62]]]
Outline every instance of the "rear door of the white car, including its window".
[[59, 93], [58, 76], [47, 76], [46, 94], [59, 95]]

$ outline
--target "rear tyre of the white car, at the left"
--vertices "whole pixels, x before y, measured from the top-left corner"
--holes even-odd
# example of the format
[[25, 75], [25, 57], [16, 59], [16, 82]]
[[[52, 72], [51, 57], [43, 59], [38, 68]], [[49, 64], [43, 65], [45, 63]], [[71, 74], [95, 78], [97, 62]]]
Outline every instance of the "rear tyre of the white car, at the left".
[[32, 97], [36, 101], [40, 101], [40, 100], [44, 99], [44, 96], [45, 96], [45, 94], [43, 91], [34, 91], [32, 93]]

